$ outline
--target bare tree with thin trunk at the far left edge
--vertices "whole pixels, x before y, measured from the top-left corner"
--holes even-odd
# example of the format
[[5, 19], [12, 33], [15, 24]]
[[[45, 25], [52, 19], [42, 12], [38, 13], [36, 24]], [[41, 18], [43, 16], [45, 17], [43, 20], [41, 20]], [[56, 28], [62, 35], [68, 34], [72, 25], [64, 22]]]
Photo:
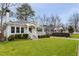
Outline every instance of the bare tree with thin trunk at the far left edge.
[[1, 37], [3, 38], [3, 18], [6, 15], [6, 11], [9, 11], [9, 7], [12, 7], [14, 4], [10, 3], [0, 3], [0, 19], [1, 19]]

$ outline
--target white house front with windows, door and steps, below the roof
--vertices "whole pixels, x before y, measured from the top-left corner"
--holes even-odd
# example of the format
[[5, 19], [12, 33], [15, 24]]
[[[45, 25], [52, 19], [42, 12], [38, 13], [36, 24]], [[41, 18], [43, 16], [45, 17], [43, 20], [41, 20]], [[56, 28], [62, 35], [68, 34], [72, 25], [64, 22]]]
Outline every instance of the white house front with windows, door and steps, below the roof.
[[31, 39], [37, 38], [36, 26], [34, 24], [10, 24], [4, 32], [8, 38], [10, 35], [15, 34], [29, 34]]

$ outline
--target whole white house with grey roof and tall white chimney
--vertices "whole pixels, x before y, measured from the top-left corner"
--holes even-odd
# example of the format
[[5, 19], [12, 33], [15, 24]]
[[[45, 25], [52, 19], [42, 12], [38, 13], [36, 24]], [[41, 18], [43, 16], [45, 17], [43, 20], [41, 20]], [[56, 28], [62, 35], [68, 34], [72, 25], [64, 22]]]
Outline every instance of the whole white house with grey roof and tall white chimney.
[[15, 34], [29, 34], [31, 39], [37, 39], [36, 24], [23, 20], [11, 21], [9, 12], [6, 13], [6, 21], [3, 23], [4, 36], [8, 38]]

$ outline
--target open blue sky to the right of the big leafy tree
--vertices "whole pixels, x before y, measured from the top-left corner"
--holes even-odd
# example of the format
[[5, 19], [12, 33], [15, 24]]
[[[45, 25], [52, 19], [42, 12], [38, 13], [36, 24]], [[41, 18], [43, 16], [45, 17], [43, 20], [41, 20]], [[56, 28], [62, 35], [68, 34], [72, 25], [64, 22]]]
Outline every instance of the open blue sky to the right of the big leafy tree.
[[73, 13], [79, 13], [79, 4], [77, 3], [30, 3], [36, 16], [58, 15], [62, 23], [67, 23]]

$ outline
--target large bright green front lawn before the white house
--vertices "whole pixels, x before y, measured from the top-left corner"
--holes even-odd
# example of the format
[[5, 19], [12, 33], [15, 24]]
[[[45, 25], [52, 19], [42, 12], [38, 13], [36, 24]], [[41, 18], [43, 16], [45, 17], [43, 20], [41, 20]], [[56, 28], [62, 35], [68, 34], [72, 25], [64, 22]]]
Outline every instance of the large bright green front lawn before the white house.
[[5, 56], [75, 56], [76, 40], [43, 38], [0, 42], [0, 55]]

